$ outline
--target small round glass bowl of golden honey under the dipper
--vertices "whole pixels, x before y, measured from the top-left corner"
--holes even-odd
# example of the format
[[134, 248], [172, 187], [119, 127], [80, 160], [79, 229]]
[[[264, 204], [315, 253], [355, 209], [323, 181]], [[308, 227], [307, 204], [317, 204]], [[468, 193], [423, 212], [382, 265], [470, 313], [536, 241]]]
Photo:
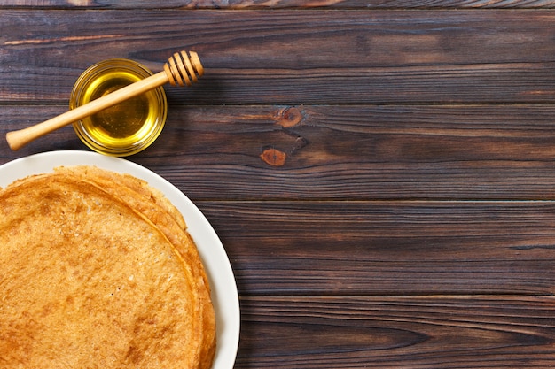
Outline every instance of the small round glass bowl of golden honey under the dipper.
[[[105, 96], [152, 75], [144, 65], [129, 59], [109, 59], [92, 65], [75, 82], [70, 108]], [[148, 147], [164, 126], [167, 101], [163, 88], [132, 97], [74, 123], [79, 138], [92, 150], [111, 156], [128, 156]]]

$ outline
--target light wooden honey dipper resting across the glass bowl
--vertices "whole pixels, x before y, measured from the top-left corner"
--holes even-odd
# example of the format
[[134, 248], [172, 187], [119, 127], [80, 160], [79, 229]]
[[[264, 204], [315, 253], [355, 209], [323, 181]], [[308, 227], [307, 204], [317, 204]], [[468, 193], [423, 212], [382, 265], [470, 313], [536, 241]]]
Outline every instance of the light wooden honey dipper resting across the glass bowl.
[[197, 74], [199, 76], [204, 74], [204, 68], [200, 64], [199, 55], [193, 51], [189, 51], [189, 54], [185, 51], [176, 52], [168, 59], [168, 63], [164, 65], [162, 72], [156, 73], [144, 80], [131, 83], [124, 88], [115, 90], [106, 96], [99, 97], [90, 103], [66, 111], [35, 126], [8, 132], [6, 134], [6, 141], [12, 150], [20, 150], [27, 143], [56, 129], [65, 127], [98, 111], [103, 111], [115, 104], [120, 104], [131, 97], [141, 95], [168, 82], [172, 86], [176, 86], [176, 84], [179, 86], [191, 86], [192, 82], [198, 81]]

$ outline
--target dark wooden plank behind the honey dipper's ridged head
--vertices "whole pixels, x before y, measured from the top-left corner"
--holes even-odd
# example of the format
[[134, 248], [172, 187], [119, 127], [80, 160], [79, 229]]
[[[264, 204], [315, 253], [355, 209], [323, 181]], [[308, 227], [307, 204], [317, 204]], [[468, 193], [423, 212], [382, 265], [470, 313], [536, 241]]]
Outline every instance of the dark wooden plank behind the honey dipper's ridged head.
[[[66, 101], [106, 58], [206, 66], [172, 104], [470, 104], [555, 100], [549, 11], [3, 10], [0, 101]], [[44, 36], [48, 29], [48, 37]]]

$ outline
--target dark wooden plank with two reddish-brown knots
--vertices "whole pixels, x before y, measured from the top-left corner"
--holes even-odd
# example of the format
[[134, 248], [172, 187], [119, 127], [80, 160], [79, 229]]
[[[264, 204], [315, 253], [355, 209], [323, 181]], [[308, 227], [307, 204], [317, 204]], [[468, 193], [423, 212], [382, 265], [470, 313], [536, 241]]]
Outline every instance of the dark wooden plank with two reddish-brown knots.
[[[9, 130], [63, 111], [4, 105], [0, 164], [86, 150], [71, 127], [17, 152], [7, 147]], [[170, 104], [160, 139], [129, 159], [194, 200], [550, 200], [554, 116], [554, 105]]]

